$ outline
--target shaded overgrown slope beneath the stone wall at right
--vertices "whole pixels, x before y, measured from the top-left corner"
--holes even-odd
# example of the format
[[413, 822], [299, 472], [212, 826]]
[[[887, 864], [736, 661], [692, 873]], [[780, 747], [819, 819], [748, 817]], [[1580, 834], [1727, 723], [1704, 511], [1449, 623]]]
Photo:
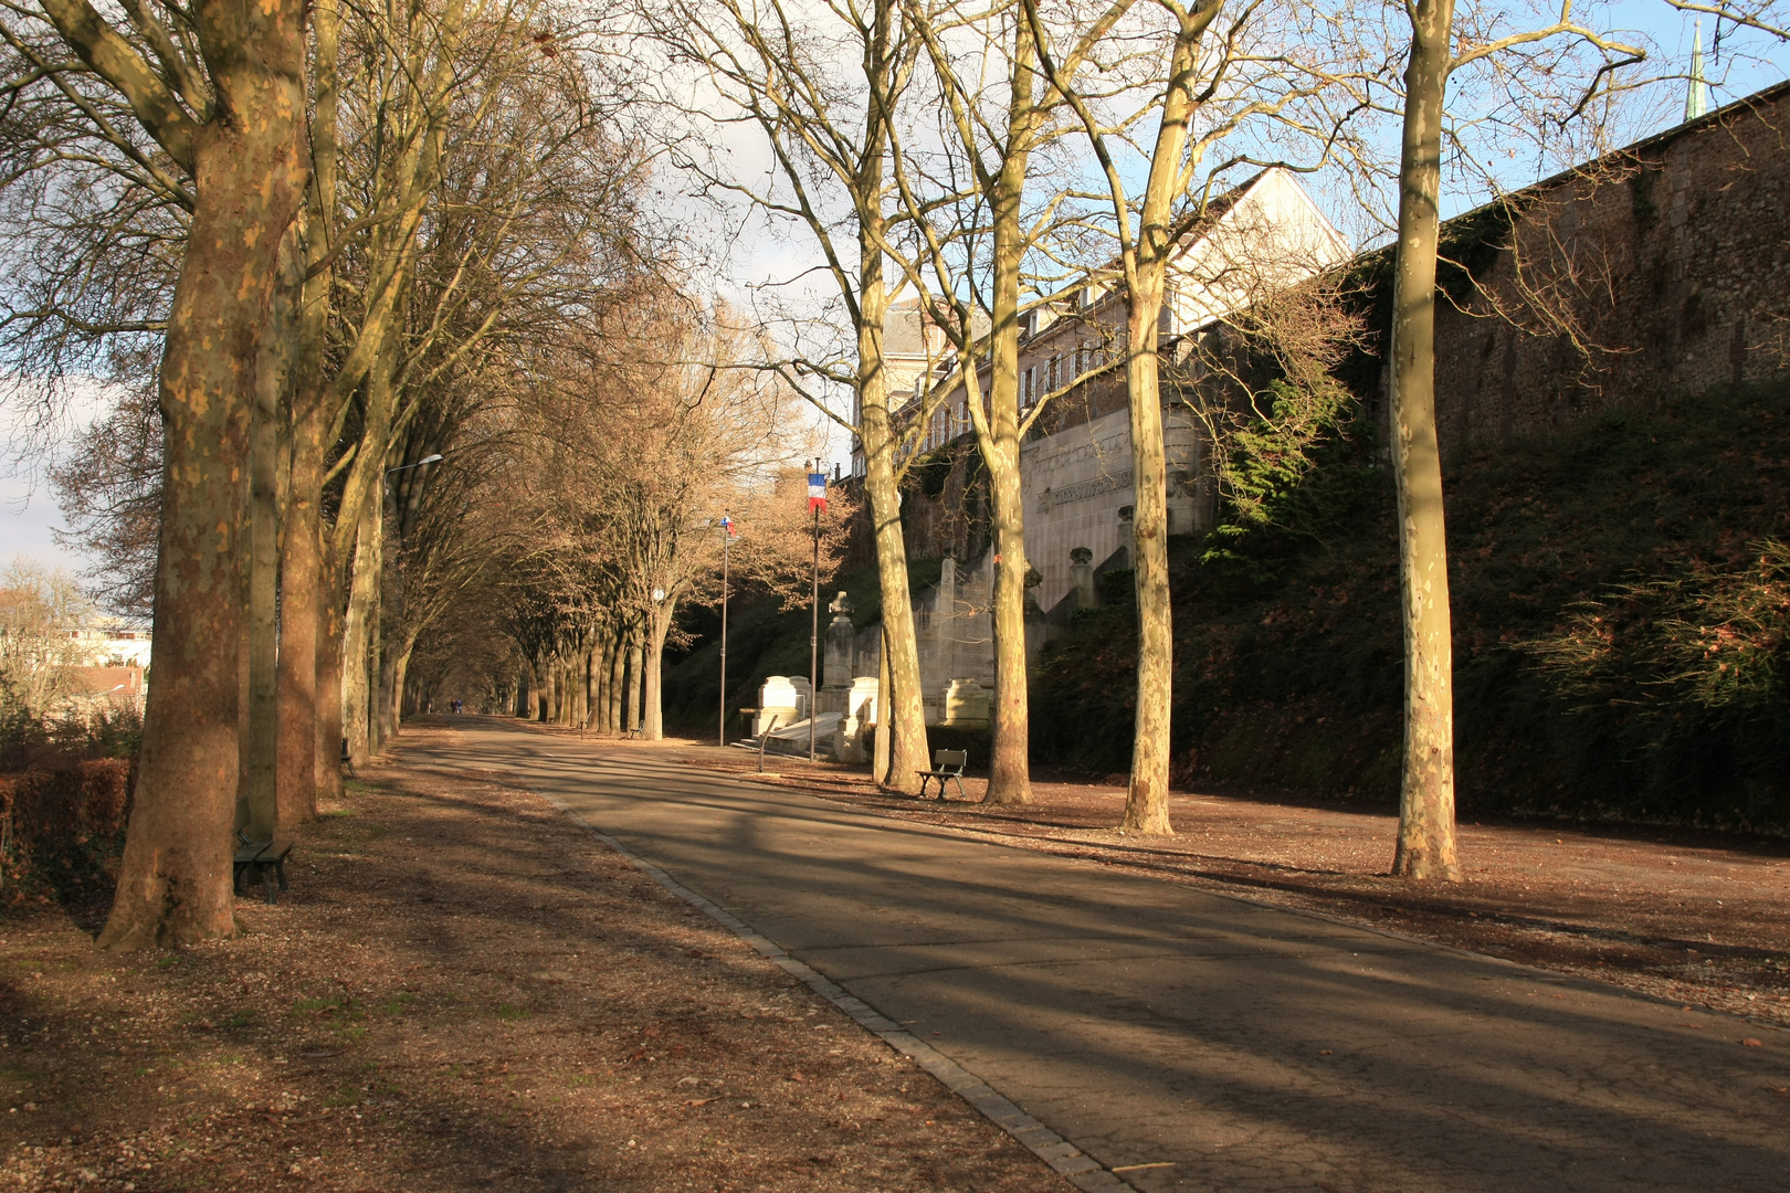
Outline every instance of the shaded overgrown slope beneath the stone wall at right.
[[[1445, 483], [1462, 808], [1790, 826], [1790, 390], [1611, 413]], [[1339, 440], [1276, 524], [1174, 549], [1178, 778], [1394, 800], [1389, 483]], [[1129, 766], [1124, 580], [1035, 680], [1044, 762]]]

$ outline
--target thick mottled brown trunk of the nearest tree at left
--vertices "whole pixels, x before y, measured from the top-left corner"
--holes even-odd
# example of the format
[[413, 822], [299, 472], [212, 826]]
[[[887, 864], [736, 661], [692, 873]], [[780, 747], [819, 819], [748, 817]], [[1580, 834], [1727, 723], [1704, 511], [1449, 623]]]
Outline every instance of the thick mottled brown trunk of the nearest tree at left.
[[[84, 13], [52, 16], [82, 48]], [[156, 681], [102, 948], [234, 932], [242, 472], [279, 241], [306, 181], [303, 7], [197, 9], [220, 116], [190, 131], [197, 193], [158, 379], [163, 419]], [[70, 20], [64, 20], [70, 18]]]

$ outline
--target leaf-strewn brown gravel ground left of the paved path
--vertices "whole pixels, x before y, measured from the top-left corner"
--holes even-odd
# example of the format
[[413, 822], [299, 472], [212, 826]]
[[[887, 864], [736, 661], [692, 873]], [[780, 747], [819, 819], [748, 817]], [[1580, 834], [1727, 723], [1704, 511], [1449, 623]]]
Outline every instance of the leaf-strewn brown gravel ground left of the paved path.
[[1069, 1188], [501, 774], [399, 749], [297, 839], [231, 941], [0, 919], [0, 1189]]

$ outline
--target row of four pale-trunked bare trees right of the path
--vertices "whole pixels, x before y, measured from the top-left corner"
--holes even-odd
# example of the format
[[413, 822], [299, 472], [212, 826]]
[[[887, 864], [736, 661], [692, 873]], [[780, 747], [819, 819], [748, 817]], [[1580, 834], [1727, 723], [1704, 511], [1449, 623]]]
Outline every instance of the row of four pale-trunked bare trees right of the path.
[[[1767, 41], [1767, 2], [1674, 4]], [[1570, 4], [1305, 5], [1255, 0], [780, 0], [641, 7], [668, 61], [668, 102], [709, 118], [705, 150], [682, 145], [703, 191], [743, 218], [806, 233], [807, 275], [759, 290], [759, 317], [786, 329], [786, 376], [857, 440], [875, 533], [893, 676], [895, 753], [882, 778], [924, 766], [918, 665], [906, 599], [899, 487], [936, 406], [961, 393], [990, 478], [997, 690], [988, 800], [1024, 803], [1024, 510], [1019, 445], [1051, 397], [1122, 374], [1131, 415], [1131, 560], [1138, 674], [1124, 828], [1171, 832], [1167, 467], [1162, 313], [1189, 290], [1189, 231], [1267, 166], [1334, 179], [1366, 199], [1364, 224], [1394, 238], [1387, 329], [1393, 472], [1403, 574], [1405, 766], [1393, 869], [1459, 873], [1453, 846], [1452, 683], [1441, 467], [1434, 417], [1434, 304], [1443, 177], [1495, 195], [1484, 165], [1523, 145], [1547, 168], [1632, 127], [1647, 47], [1611, 11]], [[1665, 75], [1675, 73], [1670, 66]], [[1453, 82], [1453, 89], [1450, 89]], [[759, 132], [759, 152], [737, 129]], [[1269, 270], [1273, 272], [1273, 270]], [[1260, 329], [1260, 286], [1210, 318]], [[1323, 290], [1323, 288], [1319, 288]], [[1070, 292], [1113, 295], [1124, 327], [1040, 401], [1022, 402], [1024, 317]], [[893, 393], [884, 322], [916, 295], [949, 349], [909, 399]], [[816, 333], [816, 320], [834, 334]], [[829, 322], [831, 320], [831, 322]], [[1321, 320], [1323, 322], [1323, 320]], [[1335, 336], [1359, 327], [1332, 318]], [[1314, 360], [1334, 358], [1335, 338]], [[1308, 363], [1308, 361], [1307, 361]], [[1323, 370], [1289, 361], [1287, 383]], [[1287, 435], [1308, 435], [1308, 419]], [[1223, 420], [1206, 419], [1208, 426]], [[1298, 444], [1292, 444], [1298, 449]], [[1221, 444], [1223, 451], [1224, 445]]]

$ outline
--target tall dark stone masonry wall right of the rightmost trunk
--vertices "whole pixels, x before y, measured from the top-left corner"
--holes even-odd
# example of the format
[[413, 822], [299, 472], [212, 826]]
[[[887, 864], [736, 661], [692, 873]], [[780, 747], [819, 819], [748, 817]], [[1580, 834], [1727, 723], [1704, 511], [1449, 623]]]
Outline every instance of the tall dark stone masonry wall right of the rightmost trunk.
[[[1790, 84], [1513, 197], [1436, 320], [1445, 456], [1790, 365]], [[1482, 222], [1487, 213], [1479, 213]], [[1452, 222], [1455, 227], [1471, 216]]]

